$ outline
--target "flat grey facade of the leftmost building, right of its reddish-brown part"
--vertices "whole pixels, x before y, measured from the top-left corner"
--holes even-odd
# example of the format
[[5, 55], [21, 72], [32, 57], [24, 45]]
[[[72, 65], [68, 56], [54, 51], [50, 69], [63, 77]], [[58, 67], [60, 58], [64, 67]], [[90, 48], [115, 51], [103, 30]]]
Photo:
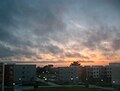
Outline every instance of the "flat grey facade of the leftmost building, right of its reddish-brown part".
[[36, 65], [14, 65], [14, 82], [16, 84], [33, 84], [36, 80]]

